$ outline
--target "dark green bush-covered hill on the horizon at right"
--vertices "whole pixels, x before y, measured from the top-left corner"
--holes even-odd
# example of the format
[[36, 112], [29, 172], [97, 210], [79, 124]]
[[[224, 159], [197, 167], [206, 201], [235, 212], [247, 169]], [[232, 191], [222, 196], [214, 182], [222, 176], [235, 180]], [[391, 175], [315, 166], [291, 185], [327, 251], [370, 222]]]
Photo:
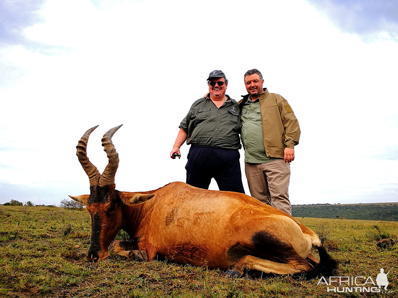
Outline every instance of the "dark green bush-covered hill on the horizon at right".
[[398, 221], [398, 203], [292, 205], [294, 217]]

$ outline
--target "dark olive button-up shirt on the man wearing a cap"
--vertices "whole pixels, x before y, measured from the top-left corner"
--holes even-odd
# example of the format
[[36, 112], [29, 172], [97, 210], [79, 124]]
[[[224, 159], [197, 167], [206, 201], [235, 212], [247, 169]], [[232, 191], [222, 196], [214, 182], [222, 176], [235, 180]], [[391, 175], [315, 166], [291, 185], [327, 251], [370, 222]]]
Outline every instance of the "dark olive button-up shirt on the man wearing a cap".
[[241, 127], [238, 103], [226, 95], [226, 101], [217, 108], [209, 97], [195, 101], [181, 121], [187, 135], [187, 144], [240, 149]]

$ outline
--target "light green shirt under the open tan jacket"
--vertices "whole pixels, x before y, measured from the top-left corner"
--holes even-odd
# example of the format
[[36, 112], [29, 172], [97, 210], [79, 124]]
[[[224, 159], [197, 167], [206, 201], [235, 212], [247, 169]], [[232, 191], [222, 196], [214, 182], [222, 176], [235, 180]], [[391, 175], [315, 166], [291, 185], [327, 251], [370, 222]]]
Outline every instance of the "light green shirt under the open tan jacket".
[[252, 101], [248, 98], [242, 106], [242, 132], [240, 137], [245, 149], [247, 163], [268, 163], [275, 161], [274, 157], [267, 157], [263, 143], [263, 127], [259, 99]]

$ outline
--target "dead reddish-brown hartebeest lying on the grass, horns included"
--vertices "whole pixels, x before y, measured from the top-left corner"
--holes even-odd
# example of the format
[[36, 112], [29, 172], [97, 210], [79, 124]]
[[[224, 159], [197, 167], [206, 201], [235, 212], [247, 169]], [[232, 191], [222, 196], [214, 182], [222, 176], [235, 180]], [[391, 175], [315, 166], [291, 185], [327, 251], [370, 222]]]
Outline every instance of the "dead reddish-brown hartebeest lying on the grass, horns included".
[[[105, 259], [122, 229], [131, 240], [115, 241], [113, 251], [129, 259], [159, 256], [228, 269], [230, 277], [240, 277], [245, 270], [330, 275], [336, 268], [310, 228], [248, 195], [203, 190], [183, 182], [149, 192], [115, 190], [119, 157], [111, 138], [120, 126], [102, 138], [109, 163], [101, 175], [86, 152], [88, 137], [96, 128], [87, 130], [76, 146], [90, 179], [90, 195], [70, 196], [86, 205], [91, 215], [89, 261]], [[320, 262], [310, 254], [312, 246], [318, 249]]]

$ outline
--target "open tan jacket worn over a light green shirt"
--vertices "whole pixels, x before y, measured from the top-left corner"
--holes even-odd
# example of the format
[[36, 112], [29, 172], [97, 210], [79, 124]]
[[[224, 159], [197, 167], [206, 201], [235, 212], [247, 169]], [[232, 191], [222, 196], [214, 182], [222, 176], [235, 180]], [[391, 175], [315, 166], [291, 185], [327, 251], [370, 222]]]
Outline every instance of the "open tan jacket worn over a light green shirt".
[[[248, 98], [248, 94], [243, 96], [239, 106], [242, 107]], [[294, 149], [300, 138], [297, 118], [287, 100], [279, 94], [269, 93], [267, 88], [260, 93], [259, 102], [265, 153], [269, 157], [284, 158], [285, 148]]]

